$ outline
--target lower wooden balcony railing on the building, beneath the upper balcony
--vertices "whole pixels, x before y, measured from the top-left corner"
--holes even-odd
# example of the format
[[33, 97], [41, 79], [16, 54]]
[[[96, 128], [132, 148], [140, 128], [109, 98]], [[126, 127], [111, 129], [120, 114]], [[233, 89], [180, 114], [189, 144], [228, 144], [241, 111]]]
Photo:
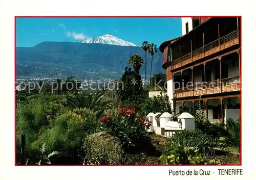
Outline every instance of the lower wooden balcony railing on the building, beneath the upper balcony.
[[177, 98], [231, 92], [240, 90], [240, 76], [232, 76], [222, 80], [202, 82], [200, 84], [175, 89]]

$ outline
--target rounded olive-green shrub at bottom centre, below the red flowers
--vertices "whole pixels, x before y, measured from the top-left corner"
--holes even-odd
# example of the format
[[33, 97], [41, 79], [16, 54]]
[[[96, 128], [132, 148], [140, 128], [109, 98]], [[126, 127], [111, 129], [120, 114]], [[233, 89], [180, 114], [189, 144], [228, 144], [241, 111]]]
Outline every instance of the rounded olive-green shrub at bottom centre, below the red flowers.
[[83, 143], [83, 164], [122, 164], [121, 142], [105, 132], [89, 135]]

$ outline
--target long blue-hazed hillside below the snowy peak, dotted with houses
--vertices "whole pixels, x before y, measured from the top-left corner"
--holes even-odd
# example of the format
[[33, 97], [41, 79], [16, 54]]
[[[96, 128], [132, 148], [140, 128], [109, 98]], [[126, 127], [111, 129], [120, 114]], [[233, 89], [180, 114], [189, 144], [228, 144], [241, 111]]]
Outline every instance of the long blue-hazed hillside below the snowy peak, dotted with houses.
[[[128, 60], [144, 51], [137, 46], [87, 44], [73, 42], [42, 42], [33, 47], [16, 47], [16, 75], [19, 77], [63, 77], [112, 79], [122, 75]], [[147, 75], [150, 75], [147, 54]], [[162, 53], [154, 56], [152, 74], [163, 72]], [[141, 68], [144, 74], [145, 65]]]

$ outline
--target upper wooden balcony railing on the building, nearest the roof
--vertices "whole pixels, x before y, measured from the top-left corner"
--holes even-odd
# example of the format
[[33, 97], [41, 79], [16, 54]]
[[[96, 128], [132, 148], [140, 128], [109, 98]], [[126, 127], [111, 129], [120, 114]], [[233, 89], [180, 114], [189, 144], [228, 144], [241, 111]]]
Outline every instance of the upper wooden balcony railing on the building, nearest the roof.
[[221, 37], [220, 39], [216, 39], [215, 41], [205, 44], [204, 46], [194, 50], [193, 52], [190, 52], [182, 57], [173, 60], [173, 69], [179, 68], [191, 62], [197, 61], [201, 58], [217, 53], [220, 50], [226, 49], [235, 44], [239, 44], [238, 30], [233, 31]]

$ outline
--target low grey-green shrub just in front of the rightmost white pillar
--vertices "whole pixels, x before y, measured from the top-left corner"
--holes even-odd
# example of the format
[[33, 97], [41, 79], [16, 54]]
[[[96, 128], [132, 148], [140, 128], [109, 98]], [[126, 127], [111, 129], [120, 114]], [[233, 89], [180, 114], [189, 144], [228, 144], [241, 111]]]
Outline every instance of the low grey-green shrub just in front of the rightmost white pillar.
[[183, 147], [195, 147], [205, 156], [214, 155], [216, 140], [201, 131], [182, 130], [170, 138], [169, 146], [176, 142]]

